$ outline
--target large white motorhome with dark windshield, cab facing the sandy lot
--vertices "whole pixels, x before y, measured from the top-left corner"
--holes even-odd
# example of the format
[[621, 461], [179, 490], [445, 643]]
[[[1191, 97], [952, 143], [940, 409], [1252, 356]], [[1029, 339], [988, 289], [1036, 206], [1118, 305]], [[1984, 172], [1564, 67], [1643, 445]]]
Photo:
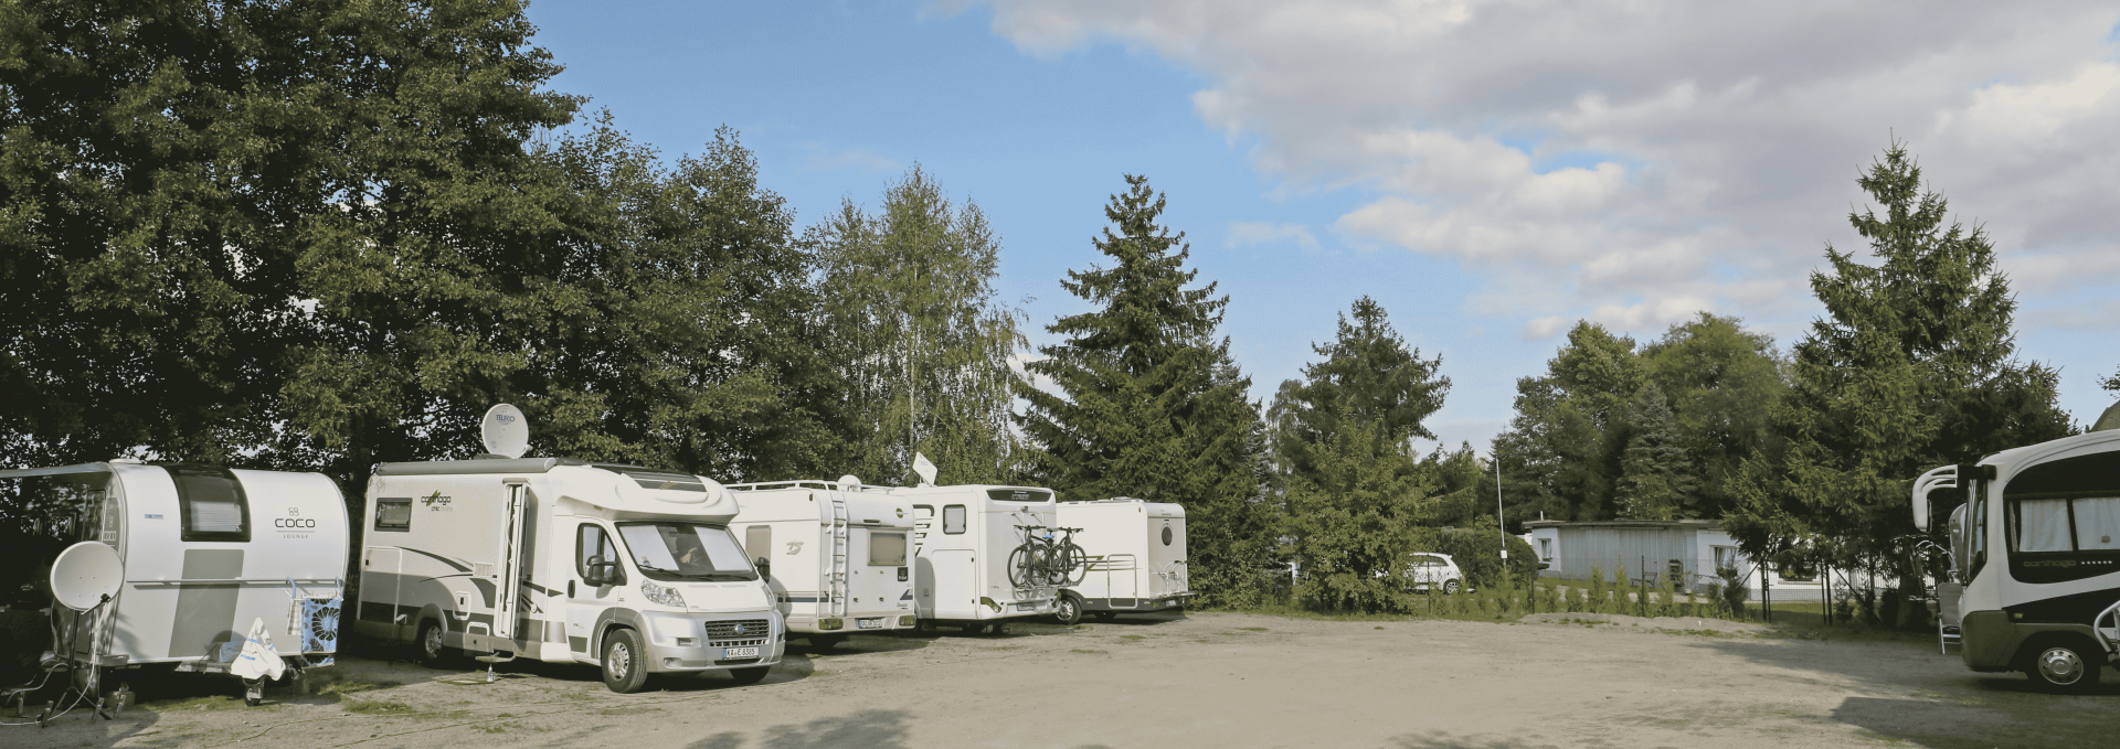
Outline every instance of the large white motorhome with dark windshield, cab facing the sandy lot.
[[710, 478], [566, 457], [382, 463], [369, 480], [354, 631], [483, 660], [759, 681], [782, 628]]

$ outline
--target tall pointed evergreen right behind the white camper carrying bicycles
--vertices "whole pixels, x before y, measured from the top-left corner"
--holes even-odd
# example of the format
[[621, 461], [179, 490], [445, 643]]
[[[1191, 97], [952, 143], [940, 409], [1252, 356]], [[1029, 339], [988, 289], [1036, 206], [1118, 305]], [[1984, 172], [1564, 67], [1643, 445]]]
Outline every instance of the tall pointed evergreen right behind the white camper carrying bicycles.
[[1060, 281], [1098, 309], [1056, 319], [1035, 377], [1020, 385], [1020, 425], [1037, 449], [1030, 480], [1068, 497], [1143, 497], [1185, 506], [1189, 571], [1206, 597], [1234, 597], [1255, 580], [1268, 514], [1259, 501], [1261, 421], [1251, 379], [1215, 336], [1225, 296], [1194, 286], [1185, 235], [1155, 220], [1164, 197], [1126, 176], [1105, 207], [1111, 226], [1094, 245], [1113, 264]]

